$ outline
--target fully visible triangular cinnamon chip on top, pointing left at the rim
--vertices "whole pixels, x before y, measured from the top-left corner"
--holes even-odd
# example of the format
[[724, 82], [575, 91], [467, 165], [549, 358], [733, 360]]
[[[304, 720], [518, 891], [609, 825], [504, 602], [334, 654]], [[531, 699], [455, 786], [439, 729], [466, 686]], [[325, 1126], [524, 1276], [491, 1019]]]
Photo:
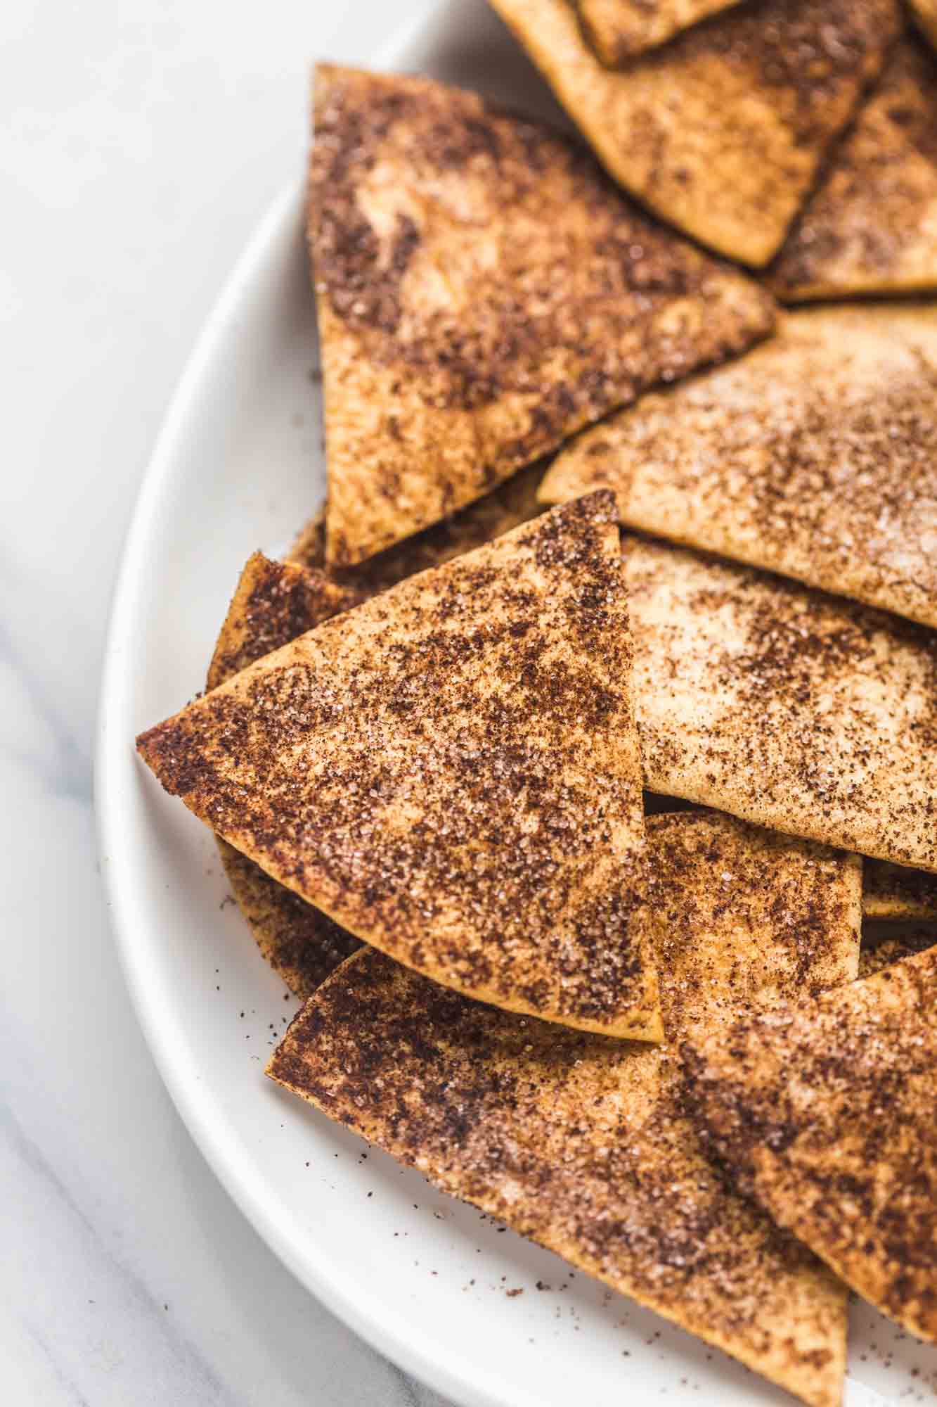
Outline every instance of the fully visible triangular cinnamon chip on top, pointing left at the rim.
[[173, 795], [447, 985], [660, 1037], [615, 504], [411, 577], [138, 740]]

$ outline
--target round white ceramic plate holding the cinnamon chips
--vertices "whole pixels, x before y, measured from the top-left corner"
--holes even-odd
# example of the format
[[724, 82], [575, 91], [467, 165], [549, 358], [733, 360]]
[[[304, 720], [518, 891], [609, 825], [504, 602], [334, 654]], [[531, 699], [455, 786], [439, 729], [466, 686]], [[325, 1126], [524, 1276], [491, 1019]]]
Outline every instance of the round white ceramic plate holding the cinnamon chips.
[[[378, 63], [363, 51], [369, 59], [556, 111], [481, 0], [450, 0], [394, 53]], [[281, 550], [322, 498], [317, 359], [297, 189], [250, 241], [183, 376], [114, 601], [101, 855], [128, 983], [166, 1085], [218, 1178], [295, 1275], [457, 1403], [788, 1401], [366, 1152], [262, 1074], [295, 1003], [227, 902], [211, 836], [145, 774], [134, 736], [203, 688], [245, 559], [255, 547]], [[913, 1399], [937, 1366], [864, 1309], [851, 1345], [851, 1404]]]

